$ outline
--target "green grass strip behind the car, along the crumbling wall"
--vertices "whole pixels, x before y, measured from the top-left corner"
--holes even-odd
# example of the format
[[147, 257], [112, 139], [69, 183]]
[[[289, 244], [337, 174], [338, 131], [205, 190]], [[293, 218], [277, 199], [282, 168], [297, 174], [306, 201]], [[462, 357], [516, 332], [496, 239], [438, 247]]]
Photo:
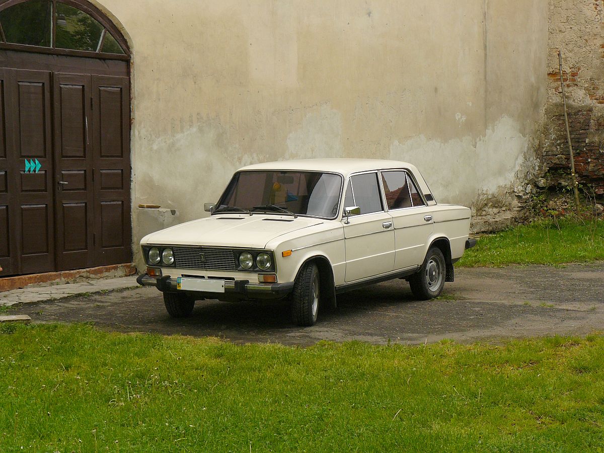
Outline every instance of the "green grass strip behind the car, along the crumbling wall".
[[560, 265], [604, 260], [604, 220], [538, 220], [481, 236], [457, 266]]

